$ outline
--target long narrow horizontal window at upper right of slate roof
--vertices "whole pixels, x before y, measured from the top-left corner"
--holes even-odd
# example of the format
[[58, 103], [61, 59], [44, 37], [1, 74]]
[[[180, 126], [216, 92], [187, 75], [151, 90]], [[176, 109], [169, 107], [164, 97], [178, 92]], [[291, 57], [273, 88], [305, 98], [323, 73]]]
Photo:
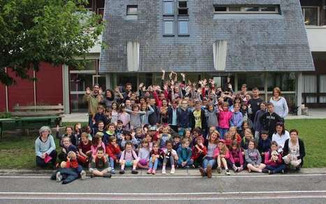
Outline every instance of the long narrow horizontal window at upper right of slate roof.
[[214, 13], [280, 13], [279, 5], [215, 5]]

